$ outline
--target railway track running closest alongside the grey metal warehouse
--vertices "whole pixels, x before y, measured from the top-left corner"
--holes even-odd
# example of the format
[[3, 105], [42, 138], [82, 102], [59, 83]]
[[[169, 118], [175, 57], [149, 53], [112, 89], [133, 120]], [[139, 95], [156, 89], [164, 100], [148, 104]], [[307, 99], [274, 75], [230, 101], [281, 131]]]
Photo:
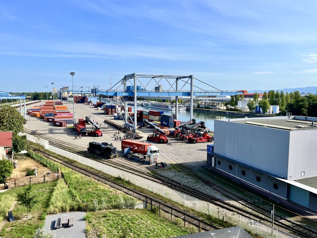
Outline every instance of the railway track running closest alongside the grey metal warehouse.
[[[171, 156], [167, 155], [166, 153], [160, 151], [160, 153], [165, 154], [165, 158], [168, 160], [172, 160], [171, 162], [173, 162], [173, 164], [178, 168], [183, 170], [185, 173], [191, 175], [192, 177], [194, 177], [195, 179], [199, 180], [200, 182], [206, 184], [207, 186], [209, 186], [210, 188], [213, 188], [214, 190], [220, 192], [223, 195], [226, 195], [227, 197], [231, 198], [232, 200], [238, 202], [239, 204], [245, 206], [248, 209], [253, 210], [254, 212], [261, 214], [261, 216], [257, 216], [255, 214], [252, 214], [253, 216], [256, 216], [257, 219], [259, 219], [258, 221], [266, 221], [266, 223], [270, 223], [271, 219], [271, 210], [266, 210], [263, 209], [260, 206], [257, 206], [255, 203], [251, 203], [247, 200], [245, 200], [243, 197], [236, 195], [235, 193], [232, 193], [231, 191], [218, 186], [217, 184], [205, 179], [204, 177], [198, 175], [197, 173], [195, 173], [194, 171], [192, 171], [191, 169], [188, 169], [187, 167], [185, 167], [184, 165], [178, 163], [177, 161], [175, 161], [173, 158], [171, 158]], [[250, 217], [250, 216], [248, 216]], [[250, 217], [251, 218], [251, 217]], [[251, 218], [252, 219], [252, 218]], [[307, 228], [301, 224], [298, 224], [294, 221], [290, 221], [289, 219], [282, 217], [280, 215], [275, 214], [274, 215], [274, 220], [275, 223], [278, 223], [280, 227], [287, 229], [288, 231], [293, 231], [295, 233], [297, 233], [297, 235], [301, 235], [301, 236], [305, 236], [305, 237], [317, 237], [316, 234], [316, 230], [313, 230], [311, 228]]]

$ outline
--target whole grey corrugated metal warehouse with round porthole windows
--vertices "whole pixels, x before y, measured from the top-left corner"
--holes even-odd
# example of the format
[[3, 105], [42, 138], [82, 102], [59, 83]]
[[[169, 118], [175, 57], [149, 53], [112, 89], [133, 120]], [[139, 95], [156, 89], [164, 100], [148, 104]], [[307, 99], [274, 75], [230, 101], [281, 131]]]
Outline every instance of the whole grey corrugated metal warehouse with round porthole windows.
[[317, 211], [316, 126], [305, 116], [215, 120], [207, 163], [270, 199]]

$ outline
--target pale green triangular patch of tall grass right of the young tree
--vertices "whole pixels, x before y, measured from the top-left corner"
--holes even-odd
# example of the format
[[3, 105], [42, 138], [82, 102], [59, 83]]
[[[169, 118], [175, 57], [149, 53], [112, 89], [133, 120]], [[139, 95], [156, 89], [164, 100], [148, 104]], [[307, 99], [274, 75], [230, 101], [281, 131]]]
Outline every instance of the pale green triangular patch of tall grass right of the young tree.
[[72, 199], [65, 182], [59, 179], [52, 193], [51, 200], [49, 201], [47, 213], [68, 212], [76, 208], [76, 202]]

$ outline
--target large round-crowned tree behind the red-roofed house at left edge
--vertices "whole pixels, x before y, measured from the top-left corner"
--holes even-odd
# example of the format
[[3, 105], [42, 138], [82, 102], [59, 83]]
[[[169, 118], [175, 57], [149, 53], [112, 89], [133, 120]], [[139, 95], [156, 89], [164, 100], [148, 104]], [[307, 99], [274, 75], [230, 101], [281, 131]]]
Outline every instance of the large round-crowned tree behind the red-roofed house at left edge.
[[23, 131], [26, 120], [15, 108], [2, 106], [0, 108], [0, 131], [12, 131], [13, 136]]

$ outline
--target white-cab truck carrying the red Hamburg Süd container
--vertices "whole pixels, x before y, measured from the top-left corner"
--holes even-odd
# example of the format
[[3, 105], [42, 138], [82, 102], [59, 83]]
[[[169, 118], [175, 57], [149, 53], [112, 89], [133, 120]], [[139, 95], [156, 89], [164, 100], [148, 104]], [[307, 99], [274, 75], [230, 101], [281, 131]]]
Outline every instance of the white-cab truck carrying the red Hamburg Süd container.
[[122, 140], [121, 149], [127, 158], [146, 164], [155, 164], [159, 157], [159, 149], [150, 143]]

